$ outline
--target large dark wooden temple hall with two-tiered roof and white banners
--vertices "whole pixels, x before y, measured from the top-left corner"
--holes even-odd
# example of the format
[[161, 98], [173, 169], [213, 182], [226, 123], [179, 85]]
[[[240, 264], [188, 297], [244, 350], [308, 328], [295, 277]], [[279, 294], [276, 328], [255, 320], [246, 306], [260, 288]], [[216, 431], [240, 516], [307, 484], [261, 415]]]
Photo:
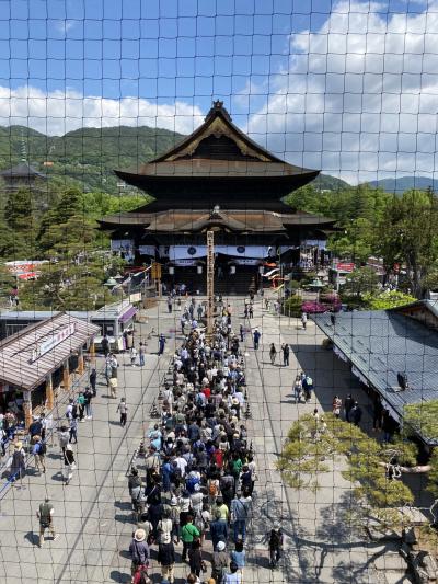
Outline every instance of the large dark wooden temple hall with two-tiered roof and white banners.
[[[116, 170], [153, 197], [138, 209], [104, 217], [112, 249], [134, 264], [162, 265], [168, 286], [205, 291], [206, 232], [215, 232], [215, 288], [247, 294], [264, 271], [288, 274], [316, 262], [334, 221], [281, 199], [318, 170], [289, 164], [253, 141], [216, 101], [193, 134], [136, 170]], [[307, 250], [308, 255], [303, 255]], [[309, 255], [309, 250], [312, 250]]]

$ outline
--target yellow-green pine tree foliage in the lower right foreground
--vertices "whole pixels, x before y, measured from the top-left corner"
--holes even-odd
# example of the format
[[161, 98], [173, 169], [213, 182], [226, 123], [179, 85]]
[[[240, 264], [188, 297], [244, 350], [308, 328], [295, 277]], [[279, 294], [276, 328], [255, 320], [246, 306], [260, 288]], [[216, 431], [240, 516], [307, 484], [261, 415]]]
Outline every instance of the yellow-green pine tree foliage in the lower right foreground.
[[391, 479], [388, 465], [414, 466], [416, 447], [405, 440], [382, 445], [359, 427], [332, 414], [315, 419], [300, 416], [291, 425], [277, 467], [286, 482], [296, 489], [318, 490], [319, 476], [339, 465], [344, 457], [344, 479], [365, 514], [383, 517], [388, 509], [413, 503], [414, 494], [401, 480]]

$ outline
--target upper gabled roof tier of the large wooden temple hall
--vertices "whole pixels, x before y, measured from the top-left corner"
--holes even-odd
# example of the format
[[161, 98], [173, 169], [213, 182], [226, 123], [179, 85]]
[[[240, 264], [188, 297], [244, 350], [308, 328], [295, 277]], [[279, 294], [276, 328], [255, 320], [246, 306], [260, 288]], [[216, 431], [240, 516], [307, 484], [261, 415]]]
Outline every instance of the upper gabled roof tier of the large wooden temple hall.
[[135, 170], [115, 173], [154, 196], [161, 208], [174, 208], [181, 199], [199, 208], [206, 196], [212, 205], [226, 207], [240, 199], [263, 208], [270, 195], [279, 210], [279, 198], [315, 179], [319, 171], [289, 164], [265, 150], [217, 101], [204, 124], [178, 145]]

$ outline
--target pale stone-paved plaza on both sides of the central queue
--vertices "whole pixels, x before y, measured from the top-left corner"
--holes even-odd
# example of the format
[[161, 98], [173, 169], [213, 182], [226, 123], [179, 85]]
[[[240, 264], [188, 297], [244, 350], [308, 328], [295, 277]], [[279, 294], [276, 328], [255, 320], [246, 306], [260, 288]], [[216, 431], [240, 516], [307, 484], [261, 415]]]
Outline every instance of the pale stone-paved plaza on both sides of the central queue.
[[[230, 299], [233, 327], [243, 319], [243, 299]], [[106, 383], [100, 377], [97, 398], [93, 402], [94, 416], [79, 425], [77, 447], [78, 470], [71, 484], [61, 481], [61, 460], [55, 438], [48, 448], [46, 474], [32, 469], [23, 486], [9, 488], [0, 501], [0, 581], [7, 584], [23, 582], [48, 583], [111, 583], [129, 582], [130, 560], [127, 553], [132, 520], [126, 471], [145, 431], [153, 425], [149, 411], [157, 398], [159, 385], [168, 370], [176, 344], [181, 343], [180, 312], [168, 313], [165, 302], [143, 311], [145, 322], [137, 324], [136, 342], [148, 342], [146, 367], [132, 368], [128, 357], [119, 369], [119, 396], [126, 396], [128, 424], [118, 424], [118, 400], [107, 396]], [[247, 328], [249, 321], [244, 322]], [[275, 470], [277, 454], [287, 431], [295, 420], [315, 406], [331, 411], [334, 393], [344, 397], [353, 390], [365, 410], [364, 425], [369, 423], [367, 398], [358, 388], [347, 367], [331, 351], [321, 348], [322, 335], [312, 322], [303, 331], [296, 319], [277, 317], [256, 301], [251, 327], [262, 331], [261, 348], [252, 347], [251, 335], [245, 339], [245, 367], [252, 417], [247, 422], [249, 438], [253, 442], [258, 467], [258, 483], [254, 501], [254, 518], [246, 545], [244, 583], [378, 583], [408, 582], [404, 565], [392, 549], [370, 543], [364, 531], [355, 533], [348, 524], [350, 485], [344, 481], [336, 465], [333, 472], [322, 477], [316, 493], [285, 489]], [[158, 357], [157, 333], [168, 336], [165, 354]], [[279, 348], [290, 343], [290, 366], [281, 367], [269, 360], [269, 344]], [[103, 359], [97, 357], [97, 367]], [[298, 370], [304, 369], [314, 380], [312, 403], [296, 404], [291, 388]], [[77, 380], [84, 386], [87, 377]], [[57, 415], [64, 417], [62, 396]], [[32, 462], [33, 466], [33, 462]], [[48, 539], [37, 548], [38, 520], [36, 511], [49, 494], [55, 507], [55, 527], [60, 534], [56, 541]], [[280, 520], [286, 534], [285, 554], [280, 569], [268, 569], [267, 547], [263, 537], [274, 520]], [[211, 550], [206, 543], [206, 559]], [[180, 558], [182, 547], [177, 547]], [[153, 582], [158, 577], [155, 547], [152, 552]], [[176, 582], [182, 584], [187, 565], [177, 563]], [[210, 571], [208, 571], [209, 575]], [[153, 575], [155, 577], [153, 577]]]

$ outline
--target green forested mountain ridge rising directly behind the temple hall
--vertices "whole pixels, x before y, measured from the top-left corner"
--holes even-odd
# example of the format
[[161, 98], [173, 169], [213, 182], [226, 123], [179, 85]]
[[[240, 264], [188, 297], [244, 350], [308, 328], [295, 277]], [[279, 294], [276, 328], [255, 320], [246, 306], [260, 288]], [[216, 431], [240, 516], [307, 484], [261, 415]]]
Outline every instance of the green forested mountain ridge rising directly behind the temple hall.
[[[84, 191], [119, 192], [114, 169], [135, 169], [184, 138], [148, 126], [81, 128], [65, 136], [45, 136], [24, 126], [0, 126], [0, 170], [23, 158], [50, 179], [56, 190], [77, 185]], [[48, 164], [48, 165], [47, 165]], [[321, 191], [341, 191], [348, 183], [320, 174], [313, 185]], [[126, 192], [135, 191], [127, 187]]]

